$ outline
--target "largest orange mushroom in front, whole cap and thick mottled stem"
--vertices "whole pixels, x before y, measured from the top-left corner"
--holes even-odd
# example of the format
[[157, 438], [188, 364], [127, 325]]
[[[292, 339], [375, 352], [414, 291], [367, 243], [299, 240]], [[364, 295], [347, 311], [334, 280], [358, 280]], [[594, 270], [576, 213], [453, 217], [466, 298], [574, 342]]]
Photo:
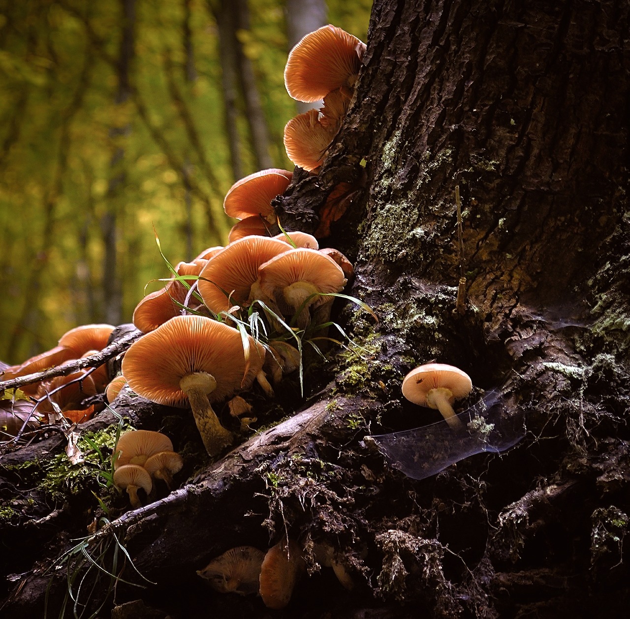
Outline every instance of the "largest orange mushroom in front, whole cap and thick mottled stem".
[[248, 389], [265, 360], [252, 337], [247, 350], [238, 330], [204, 316], [176, 316], [127, 350], [123, 376], [135, 393], [158, 404], [190, 403], [203, 445], [217, 455], [233, 435], [221, 425], [210, 401]]

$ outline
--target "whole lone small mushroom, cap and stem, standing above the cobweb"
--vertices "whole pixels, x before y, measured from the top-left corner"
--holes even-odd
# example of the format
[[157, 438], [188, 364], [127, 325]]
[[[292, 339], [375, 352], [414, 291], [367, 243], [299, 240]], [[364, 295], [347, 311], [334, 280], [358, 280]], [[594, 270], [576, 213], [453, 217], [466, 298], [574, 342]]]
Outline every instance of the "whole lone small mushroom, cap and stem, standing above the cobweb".
[[466, 372], [453, 365], [429, 363], [411, 370], [403, 380], [403, 396], [414, 404], [437, 408], [454, 430], [464, 425], [455, 415], [452, 403], [466, 396], [473, 382]]

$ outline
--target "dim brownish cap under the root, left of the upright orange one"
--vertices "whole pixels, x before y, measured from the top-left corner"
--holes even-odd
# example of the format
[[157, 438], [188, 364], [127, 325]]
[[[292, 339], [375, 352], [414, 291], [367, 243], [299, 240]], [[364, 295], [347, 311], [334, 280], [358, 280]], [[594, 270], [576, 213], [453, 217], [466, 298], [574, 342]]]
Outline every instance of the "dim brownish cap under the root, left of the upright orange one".
[[258, 592], [258, 578], [265, 553], [253, 546], [239, 546], [212, 559], [197, 574], [220, 593], [247, 595]]

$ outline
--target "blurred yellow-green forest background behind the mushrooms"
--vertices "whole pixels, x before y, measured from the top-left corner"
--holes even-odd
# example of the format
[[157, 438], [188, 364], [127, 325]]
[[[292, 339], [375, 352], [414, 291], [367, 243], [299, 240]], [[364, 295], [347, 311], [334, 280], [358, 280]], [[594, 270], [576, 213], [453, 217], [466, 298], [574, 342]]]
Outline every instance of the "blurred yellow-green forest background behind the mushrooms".
[[0, 0], [0, 360], [131, 320], [175, 264], [224, 245], [239, 178], [293, 169], [287, 53], [371, 0]]

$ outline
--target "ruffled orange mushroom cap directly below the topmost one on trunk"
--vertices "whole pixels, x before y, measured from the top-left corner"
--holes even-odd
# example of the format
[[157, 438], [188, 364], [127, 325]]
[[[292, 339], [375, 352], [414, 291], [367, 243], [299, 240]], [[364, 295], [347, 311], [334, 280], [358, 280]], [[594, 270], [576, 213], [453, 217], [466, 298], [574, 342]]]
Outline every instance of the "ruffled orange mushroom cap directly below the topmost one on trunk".
[[323, 164], [336, 133], [336, 127], [324, 127], [319, 122], [317, 109], [298, 114], [284, 127], [283, 141], [287, 157], [295, 165], [311, 172]]

